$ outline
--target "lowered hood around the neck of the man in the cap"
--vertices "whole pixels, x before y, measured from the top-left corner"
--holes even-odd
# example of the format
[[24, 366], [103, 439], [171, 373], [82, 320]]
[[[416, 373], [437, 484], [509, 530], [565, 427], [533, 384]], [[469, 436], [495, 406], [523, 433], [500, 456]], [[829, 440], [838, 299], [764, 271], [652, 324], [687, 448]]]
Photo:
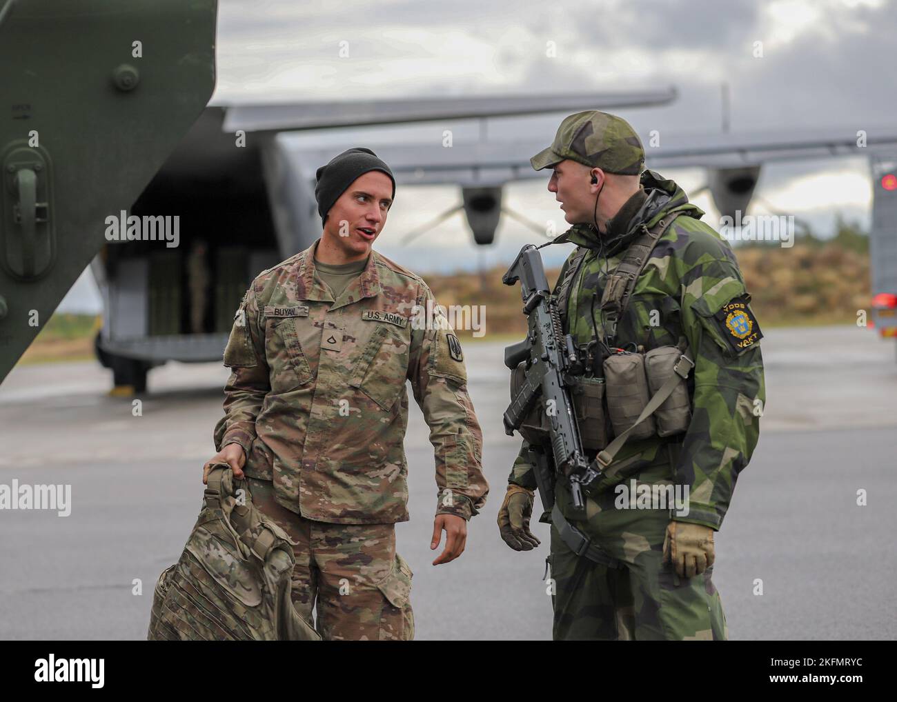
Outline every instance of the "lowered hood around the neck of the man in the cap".
[[[614, 256], [628, 247], [638, 234], [640, 225], [651, 227], [669, 212], [684, 212], [696, 220], [704, 216], [704, 211], [700, 207], [688, 202], [685, 191], [677, 186], [674, 180], [663, 178], [653, 170], [646, 170], [641, 174], [640, 183], [648, 197], [639, 212], [636, 212], [630, 220], [625, 233], [604, 240], [605, 256]], [[602, 235], [591, 224], [575, 224], [560, 237], [555, 238], [553, 243], [567, 242], [580, 247], [601, 249]]]

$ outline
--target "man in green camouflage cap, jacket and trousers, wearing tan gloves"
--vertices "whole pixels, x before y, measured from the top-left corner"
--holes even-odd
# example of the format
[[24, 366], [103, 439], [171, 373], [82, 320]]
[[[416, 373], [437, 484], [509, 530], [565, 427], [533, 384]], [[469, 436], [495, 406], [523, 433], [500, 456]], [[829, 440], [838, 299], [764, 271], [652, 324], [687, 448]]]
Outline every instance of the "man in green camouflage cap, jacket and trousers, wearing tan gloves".
[[[589, 486], [585, 514], [571, 508], [568, 482], [557, 481], [561, 517], [543, 516], [553, 521], [553, 637], [726, 639], [711, 581], [713, 533], [753, 454], [765, 402], [762, 333], [736, 257], [682, 188], [643, 171], [639, 137], [620, 117], [594, 110], [567, 117], [531, 164], [553, 169], [548, 189], [573, 225], [557, 239], [576, 245], [553, 290], [563, 332], [580, 349], [605, 339], [599, 303], [609, 275], [633, 240], [677, 214], [636, 279], [615, 346], [649, 351], [687, 342], [694, 361], [684, 433], [630, 438]], [[515, 550], [539, 543], [529, 531], [536, 481], [527, 449], [524, 441], [499, 511], [502, 538]], [[633, 479], [637, 490], [687, 488], [687, 515], [618, 508], [619, 486]], [[587, 558], [587, 550], [598, 556]]]

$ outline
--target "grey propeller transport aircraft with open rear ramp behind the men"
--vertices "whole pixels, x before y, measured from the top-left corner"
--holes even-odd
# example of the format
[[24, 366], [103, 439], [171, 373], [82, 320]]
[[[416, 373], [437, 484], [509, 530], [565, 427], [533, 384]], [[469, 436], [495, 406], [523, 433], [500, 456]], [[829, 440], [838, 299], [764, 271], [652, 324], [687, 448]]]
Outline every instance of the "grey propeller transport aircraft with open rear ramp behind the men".
[[[306, 145], [297, 147], [291, 140], [278, 138], [279, 134], [334, 126], [535, 114], [543, 112], [546, 103], [551, 104], [552, 111], [566, 112], [656, 105], [672, 100], [674, 95], [673, 91], [658, 91], [206, 108], [130, 209], [135, 215], [179, 213], [180, 246], [168, 249], [155, 242], [129, 242], [126, 246], [107, 243], [91, 264], [106, 313], [97, 339], [100, 360], [113, 368], [117, 384], [140, 388], [146, 368], [152, 364], [170, 359], [219, 360], [231, 330], [233, 311], [252, 278], [309, 247], [320, 236], [315, 170], [351, 144], [318, 146], [321, 140], [305, 139], [302, 141]], [[245, 134], [245, 148], [234, 146], [240, 134]], [[665, 133], [655, 146], [651, 146], [651, 134], [641, 136], [649, 168], [705, 168], [708, 180], [704, 187], [710, 190], [720, 214], [731, 217], [734, 224], [746, 219], [764, 162], [865, 153], [881, 169], [887, 166], [882, 160], [886, 154], [883, 149], [897, 143], [897, 130], [867, 132], [865, 141], [848, 130], [691, 137]], [[475, 243], [488, 246], [502, 214], [517, 215], [502, 205], [505, 184], [546, 178], [544, 173], [534, 171], [528, 160], [544, 148], [544, 141], [544, 134], [528, 141], [456, 139], [451, 148], [445, 148], [439, 140], [431, 139], [426, 143], [378, 143], [376, 150], [390, 164], [400, 185], [458, 186], [459, 204], [436, 221], [463, 212]], [[888, 216], [892, 218], [890, 224]], [[876, 291], [897, 292], [894, 219], [897, 193], [885, 186], [875, 187], [872, 239], [877, 262], [873, 270], [878, 272]], [[777, 221], [769, 218], [765, 223]], [[768, 228], [754, 232], [760, 238], [776, 233]], [[191, 250], [196, 240], [204, 242], [205, 250]], [[205, 266], [205, 273], [197, 273], [199, 265]], [[204, 326], [199, 330], [187, 326], [191, 308], [187, 298], [192, 295], [196, 305], [196, 275], [205, 275], [211, 282], [206, 292], [208, 304], [203, 306]], [[887, 328], [890, 317], [886, 315], [894, 307], [886, 301], [878, 306], [875, 322], [880, 331]]]

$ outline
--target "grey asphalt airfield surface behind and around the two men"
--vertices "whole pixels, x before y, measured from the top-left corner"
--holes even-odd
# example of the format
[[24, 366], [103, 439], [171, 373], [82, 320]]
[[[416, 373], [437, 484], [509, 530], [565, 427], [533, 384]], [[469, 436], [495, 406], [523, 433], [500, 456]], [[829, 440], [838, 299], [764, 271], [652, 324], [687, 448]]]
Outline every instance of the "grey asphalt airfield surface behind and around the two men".
[[[551, 637], [542, 580], [548, 529], [536, 524], [543, 545], [518, 553], [495, 525], [519, 445], [501, 429], [503, 346], [466, 345], [492, 494], [469, 525], [466, 552], [435, 568], [433, 455], [412, 399], [411, 521], [396, 530], [414, 570], [418, 639]], [[893, 342], [844, 326], [771, 330], [762, 348], [760, 443], [716, 535], [714, 582], [729, 637], [893, 639]], [[0, 510], [0, 638], [145, 637], [155, 580], [179, 558], [202, 501], [226, 378], [218, 364], [154, 369], [140, 414], [132, 401], [108, 396], [99, 364], [13, 369], [0, 386], [0, 483], [70, 484], [72, 507], [69, 516]], [[865, 507], [858, 490], [866, 490]]]

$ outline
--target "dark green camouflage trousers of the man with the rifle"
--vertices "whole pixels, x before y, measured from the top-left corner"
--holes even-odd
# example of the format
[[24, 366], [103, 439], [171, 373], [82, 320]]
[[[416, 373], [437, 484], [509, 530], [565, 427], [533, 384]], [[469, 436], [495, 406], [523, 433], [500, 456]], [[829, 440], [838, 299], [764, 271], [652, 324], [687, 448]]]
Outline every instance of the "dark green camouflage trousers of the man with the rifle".
[[[637, 480], [669, 482], [669, 474], [668, 465], [654, 467], [641, 472]], [[618, 509], [615, 498], [613, 489], [589, 498], [586, 519], [570, 520], [570, 524], [588, 534], [623, 568], [577, 556], [552, 526], [548, 560], [553, 578], [553, 638], [727, 639], [726, 615], [711, 581], [713, 568], [700, 576], [680, 578], [670, 564], [662, 562], [669, 510]], [[559, 502], [563, 504], [562, 499]]]

